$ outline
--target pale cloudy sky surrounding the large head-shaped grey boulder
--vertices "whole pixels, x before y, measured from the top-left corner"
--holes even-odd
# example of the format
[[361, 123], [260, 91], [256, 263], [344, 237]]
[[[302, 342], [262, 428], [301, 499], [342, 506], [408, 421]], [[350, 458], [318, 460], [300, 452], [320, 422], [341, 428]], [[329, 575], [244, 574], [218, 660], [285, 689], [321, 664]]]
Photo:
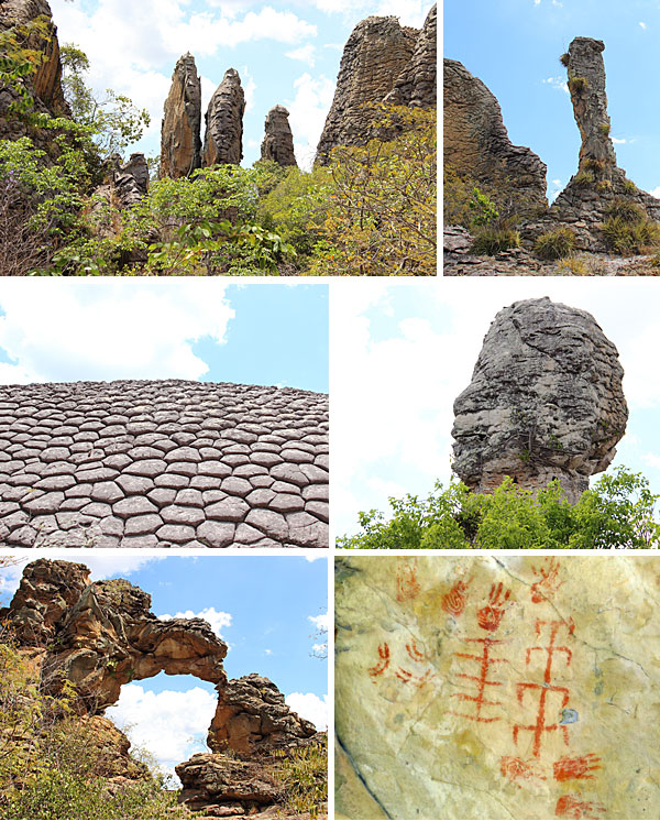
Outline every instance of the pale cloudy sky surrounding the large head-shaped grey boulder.
[[[355, 282], [331, 292], [332, 525], [356, 533], [360, 511], [426, 496], [451, 478], [453, 401], [470, 384], [490, 324], [518, 299], [549, 296], [588, 310], [616, 344], [630, 415], [613, 463], [660, 493], [657, 287], [640, 278], [496, 277]], [[612, 469], [610, 469], [612, 470]]]

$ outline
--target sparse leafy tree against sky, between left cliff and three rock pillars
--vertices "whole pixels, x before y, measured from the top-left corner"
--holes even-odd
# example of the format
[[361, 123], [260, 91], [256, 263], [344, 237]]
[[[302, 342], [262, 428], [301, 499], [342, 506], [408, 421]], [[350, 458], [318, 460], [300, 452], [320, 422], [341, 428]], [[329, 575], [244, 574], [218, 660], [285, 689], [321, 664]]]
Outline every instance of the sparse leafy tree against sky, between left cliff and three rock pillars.
[[85, 125], [102, 156], [122, 153], [138, 142], [151, 118], [146, 109], [138, 109], [125, 95], [106, 89], [106, 98], [97, 100], [85, 83], [89, 59], [73, 43], [61, 48], [62, 88], [72, 109], [73, 119]]

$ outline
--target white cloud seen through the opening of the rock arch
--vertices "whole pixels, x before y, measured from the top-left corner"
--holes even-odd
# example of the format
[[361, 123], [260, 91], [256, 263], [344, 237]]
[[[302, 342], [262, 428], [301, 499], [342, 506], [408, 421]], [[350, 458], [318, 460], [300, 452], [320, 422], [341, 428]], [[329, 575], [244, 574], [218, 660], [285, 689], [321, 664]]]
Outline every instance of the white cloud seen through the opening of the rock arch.
[[131, 683], [121, 688], [119, 701], [107, 715], [125, 727], [131, 744], [147, 749], [174, 775], [176, 764], [207, 752], [206, 735], [215, 710], [215, 696], [201, 687], [155, 693]]

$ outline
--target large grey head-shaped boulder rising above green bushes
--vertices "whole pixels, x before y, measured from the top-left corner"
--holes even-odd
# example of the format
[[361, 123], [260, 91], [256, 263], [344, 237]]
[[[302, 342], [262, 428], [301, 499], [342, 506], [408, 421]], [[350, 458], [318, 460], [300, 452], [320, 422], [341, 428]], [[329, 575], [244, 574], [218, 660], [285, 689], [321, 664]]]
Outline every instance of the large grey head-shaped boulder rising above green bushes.
[[575, 502], [625, 433], [623, 375], [591, 314], [548, 297], [504, 308], [454, 402], [454, 471], [477, 493], [559, 479]]

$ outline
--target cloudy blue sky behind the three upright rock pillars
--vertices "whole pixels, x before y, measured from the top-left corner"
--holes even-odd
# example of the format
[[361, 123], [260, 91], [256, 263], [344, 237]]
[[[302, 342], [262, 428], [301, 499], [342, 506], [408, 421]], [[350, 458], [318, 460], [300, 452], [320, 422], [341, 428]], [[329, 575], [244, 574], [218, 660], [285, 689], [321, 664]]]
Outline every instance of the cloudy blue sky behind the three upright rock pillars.
[[196, 57], [202, 113], [226, 69], [235, 68], [248, 103], [245, 166], [260, 157], [264, 120], [277, 103], [290, 111], [298, 163], [309, 164], [355, 24], [370, 14], [396, 14], [419, 28], [431, 6], [426, 0], [51, 0], [61, 43], [76, 43], [91, 61], [95, 90], [113, 88], [150, 110], [152, 125], [134, 149], [147, 155], [160, 152], [163, 103], [182, 54]]

